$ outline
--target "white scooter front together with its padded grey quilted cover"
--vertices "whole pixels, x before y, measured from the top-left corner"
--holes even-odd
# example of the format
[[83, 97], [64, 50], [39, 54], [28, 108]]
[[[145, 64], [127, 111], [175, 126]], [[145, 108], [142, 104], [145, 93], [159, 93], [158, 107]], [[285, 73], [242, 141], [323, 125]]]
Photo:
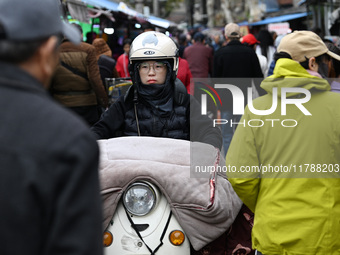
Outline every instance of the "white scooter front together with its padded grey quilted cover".
[[213, 146], [152, 137], [98, 143], [106, 255], [189, 255], [234, 221], [242, 202], [223, 174], [195, 171], [224, 164]]

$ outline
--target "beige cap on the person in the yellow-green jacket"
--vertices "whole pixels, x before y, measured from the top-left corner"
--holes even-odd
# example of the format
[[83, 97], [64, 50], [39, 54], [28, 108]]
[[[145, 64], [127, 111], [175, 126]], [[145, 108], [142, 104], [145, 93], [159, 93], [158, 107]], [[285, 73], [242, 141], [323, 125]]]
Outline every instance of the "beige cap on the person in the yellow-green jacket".
[[286, 52], [299, 63], [325, 53], [340, 61], [340, 56], [329, 51], [321, 38], [311, 31], [295, 31], [286, 35], [282, 38], [277, 52]]

